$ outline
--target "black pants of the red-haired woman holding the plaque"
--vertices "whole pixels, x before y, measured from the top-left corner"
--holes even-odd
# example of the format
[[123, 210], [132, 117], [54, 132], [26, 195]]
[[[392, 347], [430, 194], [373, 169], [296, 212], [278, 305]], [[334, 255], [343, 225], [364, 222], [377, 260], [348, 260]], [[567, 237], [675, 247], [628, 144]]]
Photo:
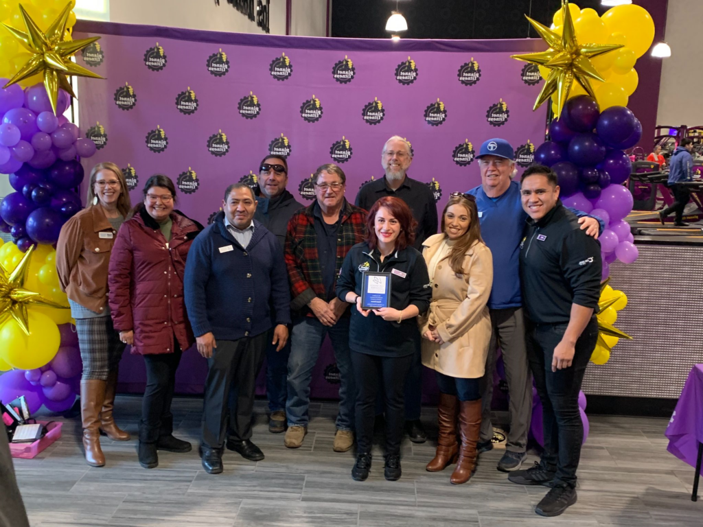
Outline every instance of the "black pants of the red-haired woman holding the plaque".
[[380, 357], [352, 350], [352, 367], [356, 379], [355, 420], [358, 453], [371, 451], [375, 401], [381, 385], [385, 388], [386, 455], [400, 453], [405, 423], [405, 381], [413, 359], [413, 355]]

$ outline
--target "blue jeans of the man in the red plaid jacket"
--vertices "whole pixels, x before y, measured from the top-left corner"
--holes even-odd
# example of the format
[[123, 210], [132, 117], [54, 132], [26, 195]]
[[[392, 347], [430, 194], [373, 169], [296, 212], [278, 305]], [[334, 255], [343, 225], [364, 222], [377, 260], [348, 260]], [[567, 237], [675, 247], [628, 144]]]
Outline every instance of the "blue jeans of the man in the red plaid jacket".
[[307, 427], [309, 422], [310, 381], [325, 335], [330, 335], [340, 370], [340, 410], [338, 430], [354, 430], [356, 389], [349, 351], [349, 317], [342, 317], [333, 326], [325, 326], [317, 318], [295, 320], [291, 332], [288, 358], [288, 401], [285, 415], [289, 427]]

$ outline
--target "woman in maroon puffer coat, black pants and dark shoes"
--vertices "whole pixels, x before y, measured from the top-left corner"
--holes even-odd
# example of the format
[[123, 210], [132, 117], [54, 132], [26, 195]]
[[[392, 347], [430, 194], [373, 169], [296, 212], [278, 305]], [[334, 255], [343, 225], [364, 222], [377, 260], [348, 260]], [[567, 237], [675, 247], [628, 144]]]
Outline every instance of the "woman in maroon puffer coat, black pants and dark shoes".
[[173, 436], [171, 401], [181, 353], [195, 342], [183, 301], [186, 256], [202, 225], [174, 212], [176, 188], [151, 176], [144, 202], [117, 233], [110, 256], [110, 313], [120, 339], [144, 356], [146, 390], [139, 423], [139, 463], [152, 469], [157, 450], [189, 452]]

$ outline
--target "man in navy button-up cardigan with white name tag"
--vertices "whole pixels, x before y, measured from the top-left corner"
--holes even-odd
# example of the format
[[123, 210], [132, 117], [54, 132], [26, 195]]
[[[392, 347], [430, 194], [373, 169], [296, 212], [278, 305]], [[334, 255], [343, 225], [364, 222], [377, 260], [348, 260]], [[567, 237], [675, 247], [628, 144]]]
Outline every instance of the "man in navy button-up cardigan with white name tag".
[[208, 366], [200, 445], [208, 474], [221, 473], [225, 444], [247, 460], [264, 459], [251, 441], [254, 384], [274, 323], [277, 350], [288, 341], [288, 273], [276, 236], [254, 220], [256, 208], [245, 183], [230, 185], [186, 263], [188, 318]]

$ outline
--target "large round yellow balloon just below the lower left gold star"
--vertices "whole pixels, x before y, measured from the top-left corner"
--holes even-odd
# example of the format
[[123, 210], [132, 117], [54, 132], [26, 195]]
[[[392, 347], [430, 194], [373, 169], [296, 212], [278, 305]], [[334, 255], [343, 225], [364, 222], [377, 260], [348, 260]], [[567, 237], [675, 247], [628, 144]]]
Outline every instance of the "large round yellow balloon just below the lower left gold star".
[[43, 313], [27, 311], [30, 334], [25, 335], [16, 320], [0, 327], [0, 358], [20, 370], [44, 366], [56, 356], [60, 334], [56, 323]]

